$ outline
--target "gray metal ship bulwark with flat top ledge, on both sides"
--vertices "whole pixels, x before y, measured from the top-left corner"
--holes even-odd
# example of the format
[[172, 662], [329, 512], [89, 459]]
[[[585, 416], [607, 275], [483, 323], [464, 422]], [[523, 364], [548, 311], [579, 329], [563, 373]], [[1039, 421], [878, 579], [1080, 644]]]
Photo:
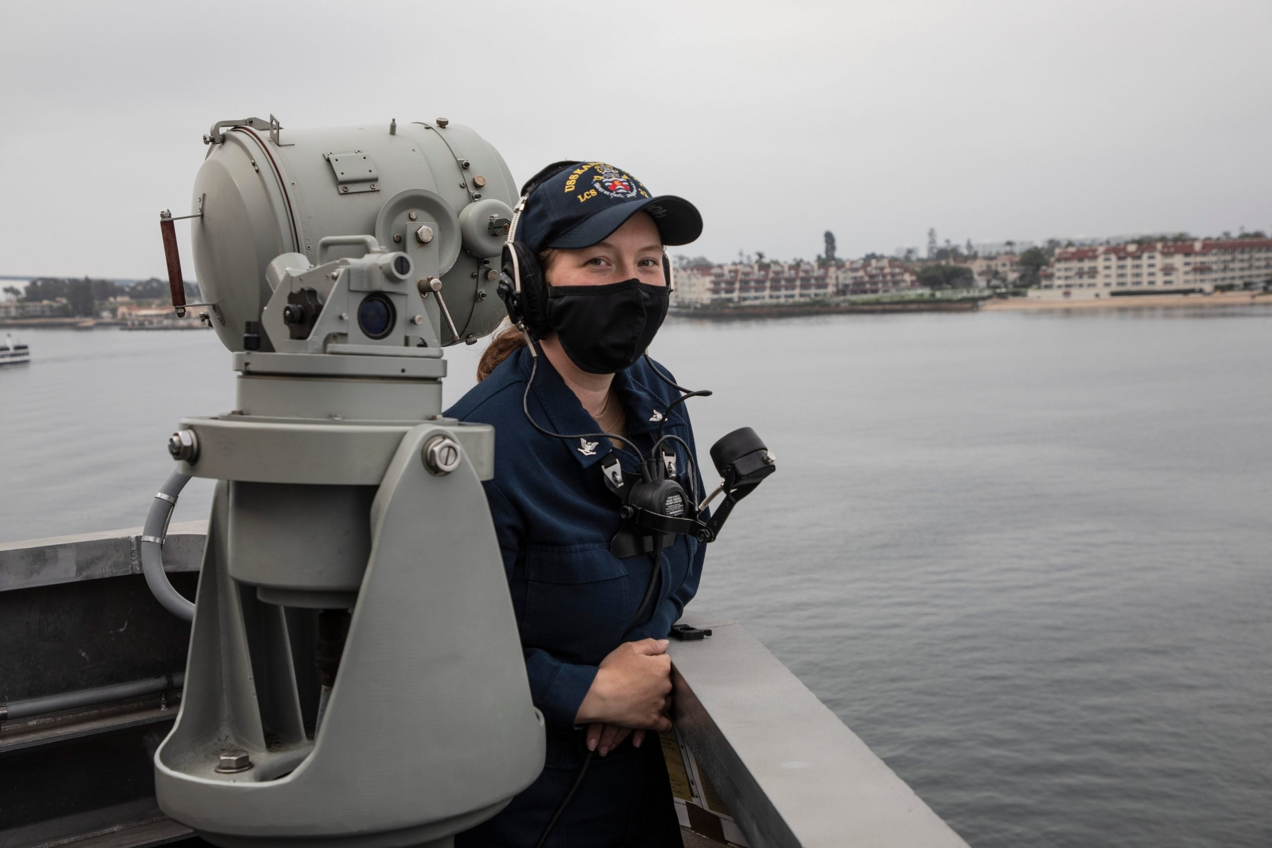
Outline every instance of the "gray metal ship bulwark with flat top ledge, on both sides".
[[[205, 531], [204, 521], [169, 526], [164, 567], [174, 580], [198, 570]], [[4, 805], [18, 815], [11, 826], [0, 823], [0, 844], [108, 831], [112, 845], [151, 845], [188, 833], [162, 816], [153, 788], [146, 793], [153, 777], [142, 750], [167, 732], [176, 712], [168, 698], [174, 703], [179, 693], [151, 687], [137, 689], [131, 707], [80, 703], [88, 692], [127, 692], [183, 670], [188, 626], [149, 595], [140, 535], [134, 528], [0, 543], [0, 704], [59, 695], [79, 704], [56, 716], [0, 720], [0, 773], [28, 772], [22, 797]], [[178, 587], [188, 592], [192, 580], [184, 573]], [[965, 848], [742, 624], [693, 609], [682, 623], [711, 631], [669, 648], [675, 734], [663, 746], [675, 763], [678, 815], [696, 831], [686, 833], [687, 847]], [[112, 643], [128, 653], [116, 656]], [[64, 749], [64, 759], [67, 745], [81, 749], [74, 774], [47, 765], [51, 745]], [[121, 782], [141, 787], [136, 797], [121, 795]], [[47, 802], [55, 797], [56, 805]]]

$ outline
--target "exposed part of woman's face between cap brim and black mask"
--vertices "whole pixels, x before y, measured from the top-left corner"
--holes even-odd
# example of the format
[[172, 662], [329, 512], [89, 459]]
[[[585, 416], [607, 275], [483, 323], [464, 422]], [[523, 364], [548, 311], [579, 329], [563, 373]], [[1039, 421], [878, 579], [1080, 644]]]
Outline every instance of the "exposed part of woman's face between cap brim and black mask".
[[603, 242], [557, 248], [544, 273], [553, 286], [603, 286], [632, 278], [665, 286], [661, 236], [647, 212], [636, 212]]

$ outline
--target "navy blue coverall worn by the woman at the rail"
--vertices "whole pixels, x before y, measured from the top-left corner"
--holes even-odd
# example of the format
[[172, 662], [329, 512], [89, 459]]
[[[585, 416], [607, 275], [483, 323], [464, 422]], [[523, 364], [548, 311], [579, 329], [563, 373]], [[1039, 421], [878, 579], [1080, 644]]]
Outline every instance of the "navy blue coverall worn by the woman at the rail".
[[[651, 554], [619, 559], [609, 552], [621, 524], [619, 501], [605, 488], [600, 464], [616, 451], [622, 468], [637, 473], [637, 458], [608, 439], [562, 441], [536, 431], [522, 409], [529, 376], [530, 353], [522, 347], [446, 412], [460, 421], [495, 426], [495, 478], [483, 486], [508, 571], [530, 694], [543, 712], [548, 737], [538, 779], [494, 819], [459, 834], [457, 848], [536, 844], [583, 764], [584, 730], [574, 718], [598, 664], [622, 642], [665, 638], [702, 575], [706, 545], [678, 537], [661, 558], [651, 618], [623, 631], [640, 606], [654, 564]], [[653, 448], [664, 416], [664, 432], [693, 448], [684, 404], [668, 412], [679, 393], [659, 380], [649, 364], [640, 360], [616, 374], [613, 385], [627, 416], [626, 436], [642, 451]], [[599, 430], [542, 355], [529, 409], [552, 432]], [[664, 442], [664, 449], [669, 445], [674, 445], [677, 472], [688, 491], [684, 449], [674, 442]], [[701, 497], [701, 477], [697, 486]], [[640, 749], [628, 737], [607, 756], [594, 755], [547, 845], [678, 848], [679, 828], [658, 736], [649, 734]]]

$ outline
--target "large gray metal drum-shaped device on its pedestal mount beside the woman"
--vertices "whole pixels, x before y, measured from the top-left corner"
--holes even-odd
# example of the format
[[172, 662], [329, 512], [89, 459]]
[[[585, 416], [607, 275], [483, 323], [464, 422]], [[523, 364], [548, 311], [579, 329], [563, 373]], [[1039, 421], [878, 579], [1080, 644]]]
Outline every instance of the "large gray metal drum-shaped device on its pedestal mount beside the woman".
[[155, 795], [216, 845], [443, 848], [543, 768], [495, 432], [441, 416], [441, 348], [502, 313], [490, 222], [515, 188], [444, 126], [207, 136], [195, 263], [239, 376], [168, 442], [176, 479], [218, 483]]

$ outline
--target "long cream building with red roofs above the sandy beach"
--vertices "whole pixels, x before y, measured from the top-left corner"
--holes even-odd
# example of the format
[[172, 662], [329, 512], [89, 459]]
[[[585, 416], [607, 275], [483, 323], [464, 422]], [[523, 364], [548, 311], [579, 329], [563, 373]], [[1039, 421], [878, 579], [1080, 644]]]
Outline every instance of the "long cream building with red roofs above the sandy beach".
[[1029, 295], [1038, 299], [1112, 294], [1215, 291], [1272, 281], [1272, 239], [1197, 239], [1065, 248]]

